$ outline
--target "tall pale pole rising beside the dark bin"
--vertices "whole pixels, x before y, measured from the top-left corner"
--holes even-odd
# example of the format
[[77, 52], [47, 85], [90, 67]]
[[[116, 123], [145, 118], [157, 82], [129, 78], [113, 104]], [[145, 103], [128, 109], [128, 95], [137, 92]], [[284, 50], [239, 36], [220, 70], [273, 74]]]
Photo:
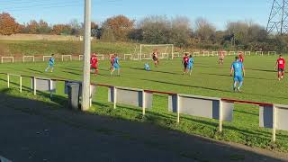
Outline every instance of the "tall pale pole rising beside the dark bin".
[[90, 108], [91, 0], [85, 0], [82, 111]]

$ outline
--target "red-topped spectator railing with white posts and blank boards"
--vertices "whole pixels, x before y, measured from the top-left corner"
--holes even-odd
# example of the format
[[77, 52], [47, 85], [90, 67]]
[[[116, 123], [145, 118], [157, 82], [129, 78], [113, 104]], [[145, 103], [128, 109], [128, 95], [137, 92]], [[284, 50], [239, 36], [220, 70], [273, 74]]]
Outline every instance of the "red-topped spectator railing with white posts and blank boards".
[[[21, 76], [5, 74], [7, 76], [7, 86], [10, 87], [10, 77], [19, 77], [20, 92], [22, 92], [22, 78], [31, 78], [31, 89], [36, 95], [37, 91], [56, 92], [57, 82], [65, 82], [65, 93], [67, 94], [67, 84], [80, 81], [68, 81], [65, 79], [52, 79], [37, 76]], [[250, 101], [232, 100], [226, 98], [205, 97], [190, 94], [176, 94], [172, 92], [161, 92], [153, 90], [136, 89], [129, 87], [120, 87], [112, 85], [92, 84], [90, 87], [90, 103], [93, 95], [96, 94], [97, 86], [108, 87], [108, 101], [117, 104], [126, 104], [142, 108], [142, 114], [145, 115], [146, 109], [152, 108], [153, 94], [167, 94], [169, 112], [177, 113], [177, 122], [180, 122], [180, 114], [209, 118], [219, 121], [219, 131], [222, 131], [222, 121], [233, 120], [234, 103], [246, 103], [259, 106], [259, 127], [272, 129], [272, 139], [276, 140], [276, 130], [288, 130], [288, 105], [274, 103], [257, 103]], [[81, 90], [80, 90], [81, 93]], [[80, 94], [81, 96], [81, 94]]]

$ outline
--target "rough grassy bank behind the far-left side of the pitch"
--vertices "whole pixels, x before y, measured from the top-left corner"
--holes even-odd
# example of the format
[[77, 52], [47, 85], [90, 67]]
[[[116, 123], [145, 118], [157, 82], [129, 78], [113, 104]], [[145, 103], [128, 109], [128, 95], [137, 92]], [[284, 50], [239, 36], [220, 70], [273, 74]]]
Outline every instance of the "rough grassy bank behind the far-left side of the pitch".
[[[138, 45], [139, 46], [139, 45]], [[137, 44], [128, 42], [92, 41], [92, 51], [101, 54], [134, 53]], [[138, 47], [139, 48], [139, 47]], [[139, 49], [138, 49], [139, 51]], [[83, 53], [83, 41], [0, 40], [0, 55], [71, 55]]]

